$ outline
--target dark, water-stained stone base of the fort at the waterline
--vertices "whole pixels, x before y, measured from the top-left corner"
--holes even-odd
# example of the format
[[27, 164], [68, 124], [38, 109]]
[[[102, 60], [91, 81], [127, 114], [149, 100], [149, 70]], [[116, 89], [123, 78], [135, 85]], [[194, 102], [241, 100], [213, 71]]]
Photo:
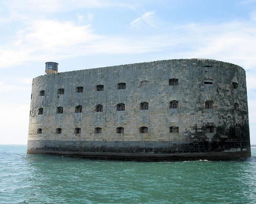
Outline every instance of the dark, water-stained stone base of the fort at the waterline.
[[[250, 145], [239, 142], [170, 143], [168, 141], [56, 141], [29, 140], [27, 154], [61, 154], [67, 156], [135, 160], [181, 161], [223, 160], [250, 157]], [[217, 148], [216, 148], [217, 147]]]

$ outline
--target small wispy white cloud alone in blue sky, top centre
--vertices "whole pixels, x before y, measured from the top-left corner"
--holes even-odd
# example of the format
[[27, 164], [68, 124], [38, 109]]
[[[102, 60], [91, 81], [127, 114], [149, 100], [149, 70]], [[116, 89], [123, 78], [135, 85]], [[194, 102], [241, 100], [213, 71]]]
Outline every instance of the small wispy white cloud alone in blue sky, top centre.
[[141, 28], [143, 25], [148, 25], [154, 28], [157, 28], [158, 26], [154, 22], [152, 15], [154, 15], [154, 11], [149, 11], [147, 13], [144, 13], [141, 17], [135, 19], [131, 22], [131, 26]]

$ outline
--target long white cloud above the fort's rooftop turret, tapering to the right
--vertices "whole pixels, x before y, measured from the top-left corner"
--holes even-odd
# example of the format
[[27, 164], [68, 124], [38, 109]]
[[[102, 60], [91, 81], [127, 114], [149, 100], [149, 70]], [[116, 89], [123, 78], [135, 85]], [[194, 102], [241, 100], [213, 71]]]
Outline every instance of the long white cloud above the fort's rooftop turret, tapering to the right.
[[[38, 20], [18, 31], [11, 44], [0, 49], [0, 68], [27, 61], [62, 59], [99, 53], [144, 53], [177, 45], [168, 35], [111, 37], [95, 34], [90, 26], [72, 22]], [[7, 48], [6, 48], [7, 47]]]

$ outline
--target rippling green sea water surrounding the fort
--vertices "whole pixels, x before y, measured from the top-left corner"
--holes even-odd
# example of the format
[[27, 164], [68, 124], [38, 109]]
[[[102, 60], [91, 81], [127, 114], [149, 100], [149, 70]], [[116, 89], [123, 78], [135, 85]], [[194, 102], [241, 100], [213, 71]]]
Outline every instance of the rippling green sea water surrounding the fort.
[[0, 203], [256, 203], [256, 148], [236, 161], [132, 162], [0, 145]]

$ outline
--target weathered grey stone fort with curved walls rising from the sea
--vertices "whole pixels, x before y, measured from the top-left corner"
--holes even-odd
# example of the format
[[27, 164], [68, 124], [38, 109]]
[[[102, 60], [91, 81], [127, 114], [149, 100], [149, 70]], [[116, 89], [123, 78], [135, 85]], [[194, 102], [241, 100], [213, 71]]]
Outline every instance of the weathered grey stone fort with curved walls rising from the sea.
[[33, 79], [27, 153], [108, 159], [250, 157], [243, 68], [175, 59]]

